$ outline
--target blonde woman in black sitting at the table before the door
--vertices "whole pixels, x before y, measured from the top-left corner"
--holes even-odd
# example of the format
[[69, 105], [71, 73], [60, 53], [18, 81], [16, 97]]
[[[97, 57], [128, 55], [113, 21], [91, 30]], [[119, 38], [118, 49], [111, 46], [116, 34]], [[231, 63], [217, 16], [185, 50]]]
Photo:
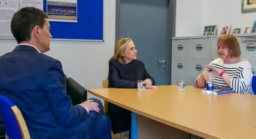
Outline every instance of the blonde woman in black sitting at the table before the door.
[[[114, 55], [109, 60], [109, 88], [137, 88], [137, 80], [144, 80], [147, 88], [155, 85], [154, 79], [145, 69], [143, 62], [136, 59], [137, 51], [133, 40], [119, 38], [115, 45]], [[108, 103], [107, 115], [112, 121], [114, 134], [131, 128], [131, 111]]]

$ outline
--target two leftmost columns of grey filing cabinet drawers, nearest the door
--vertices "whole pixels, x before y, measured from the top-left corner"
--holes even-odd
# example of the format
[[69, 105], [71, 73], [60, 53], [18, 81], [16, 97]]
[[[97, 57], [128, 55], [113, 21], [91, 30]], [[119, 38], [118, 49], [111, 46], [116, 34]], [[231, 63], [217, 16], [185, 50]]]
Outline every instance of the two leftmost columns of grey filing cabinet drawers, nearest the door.
[[194, 85], [196, 77], [210, 62], [210, 39], [208, 36], [172, 38], [172, 85], [186, 80]]

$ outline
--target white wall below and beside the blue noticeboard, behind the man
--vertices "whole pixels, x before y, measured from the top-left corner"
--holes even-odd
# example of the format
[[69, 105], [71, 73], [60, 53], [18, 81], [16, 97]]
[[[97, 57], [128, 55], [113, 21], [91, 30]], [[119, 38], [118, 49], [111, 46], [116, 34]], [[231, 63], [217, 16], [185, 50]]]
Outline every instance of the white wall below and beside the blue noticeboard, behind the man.
[[[45, 54], [62, 62], [63, 70], [86, 89], [102, 88], [108, 76], [108, 59], [115, 46], [116, 2], [104, 0], [105, 42], [51, 41], [51, 50]], [[10, 52], [17, 45], [15, 40], [0, 39], [0, 55]], [[95, 97], [88, 94], [88, 98]]]

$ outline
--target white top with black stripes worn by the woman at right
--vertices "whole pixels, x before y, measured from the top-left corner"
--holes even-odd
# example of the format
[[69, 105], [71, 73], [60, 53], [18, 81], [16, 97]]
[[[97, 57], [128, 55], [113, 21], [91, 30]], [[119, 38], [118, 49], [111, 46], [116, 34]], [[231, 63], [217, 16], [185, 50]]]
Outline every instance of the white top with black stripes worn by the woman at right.
[[[218, 58], [213, 60], [209, 66], [226, 71], [231, 77], [230, 86], [233, 88], [233, 92], [253, 94], [253, 74], [252, 66], [249, 61], [244, 60], [235, 64], [225, 64], [221, 58]], [[204, 69], [204, 71], [208, 71], [208, 69]], [[228, 87], [220, 76], [214, 77], [214, 86]]]

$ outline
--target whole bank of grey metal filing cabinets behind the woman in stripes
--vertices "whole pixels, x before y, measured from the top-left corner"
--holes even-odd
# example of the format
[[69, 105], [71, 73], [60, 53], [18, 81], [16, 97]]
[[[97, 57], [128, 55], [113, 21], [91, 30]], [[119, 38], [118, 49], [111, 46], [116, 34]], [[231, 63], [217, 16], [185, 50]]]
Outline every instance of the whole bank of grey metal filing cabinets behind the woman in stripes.
[[[217, 41], [223, 35], [188, 36], [172, 38], [172, 85], [186, 80], [194, 85], [196, 77], [214, 59], [218, 58]], [[242, 56], [250, 61], [256, 76], [256, 34], [236, 34]]]

